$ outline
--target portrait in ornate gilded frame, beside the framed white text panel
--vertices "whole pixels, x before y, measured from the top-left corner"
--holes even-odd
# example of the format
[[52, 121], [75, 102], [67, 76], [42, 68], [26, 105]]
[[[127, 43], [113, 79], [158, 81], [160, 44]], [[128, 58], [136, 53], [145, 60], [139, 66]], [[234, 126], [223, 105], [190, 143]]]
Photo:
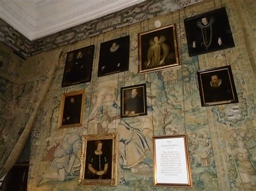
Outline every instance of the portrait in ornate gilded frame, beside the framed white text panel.
[[117, 133], [83, 136], [78, 184], [117, 186]]

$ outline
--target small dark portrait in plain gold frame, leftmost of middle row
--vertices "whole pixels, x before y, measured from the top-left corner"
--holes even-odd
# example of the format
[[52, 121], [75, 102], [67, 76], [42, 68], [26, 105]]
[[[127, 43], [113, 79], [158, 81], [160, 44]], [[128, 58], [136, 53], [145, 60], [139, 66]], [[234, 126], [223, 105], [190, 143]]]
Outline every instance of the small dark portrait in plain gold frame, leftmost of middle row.
[[84, 91], [62, 95], [59, 112], [59, 128], [82, 126], [84, 112]]

